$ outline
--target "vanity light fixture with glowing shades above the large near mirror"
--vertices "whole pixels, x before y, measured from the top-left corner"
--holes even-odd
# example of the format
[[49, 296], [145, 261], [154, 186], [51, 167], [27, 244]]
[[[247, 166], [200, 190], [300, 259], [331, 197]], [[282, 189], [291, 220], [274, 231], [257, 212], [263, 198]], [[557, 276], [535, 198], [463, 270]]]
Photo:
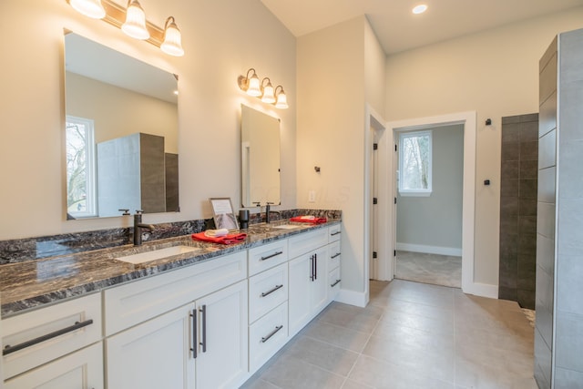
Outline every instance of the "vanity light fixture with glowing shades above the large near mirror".
[[166, 19], [164, 29], [146, 20], [146, 14], [137, 0], [128, 0], [124, 8], [112, 0], [66, 0], [79, 14], [103, 19], [120, 28], [128, 36], [146, 40], [169, 56], [184, 56], [182, 36], [174, 17]]

